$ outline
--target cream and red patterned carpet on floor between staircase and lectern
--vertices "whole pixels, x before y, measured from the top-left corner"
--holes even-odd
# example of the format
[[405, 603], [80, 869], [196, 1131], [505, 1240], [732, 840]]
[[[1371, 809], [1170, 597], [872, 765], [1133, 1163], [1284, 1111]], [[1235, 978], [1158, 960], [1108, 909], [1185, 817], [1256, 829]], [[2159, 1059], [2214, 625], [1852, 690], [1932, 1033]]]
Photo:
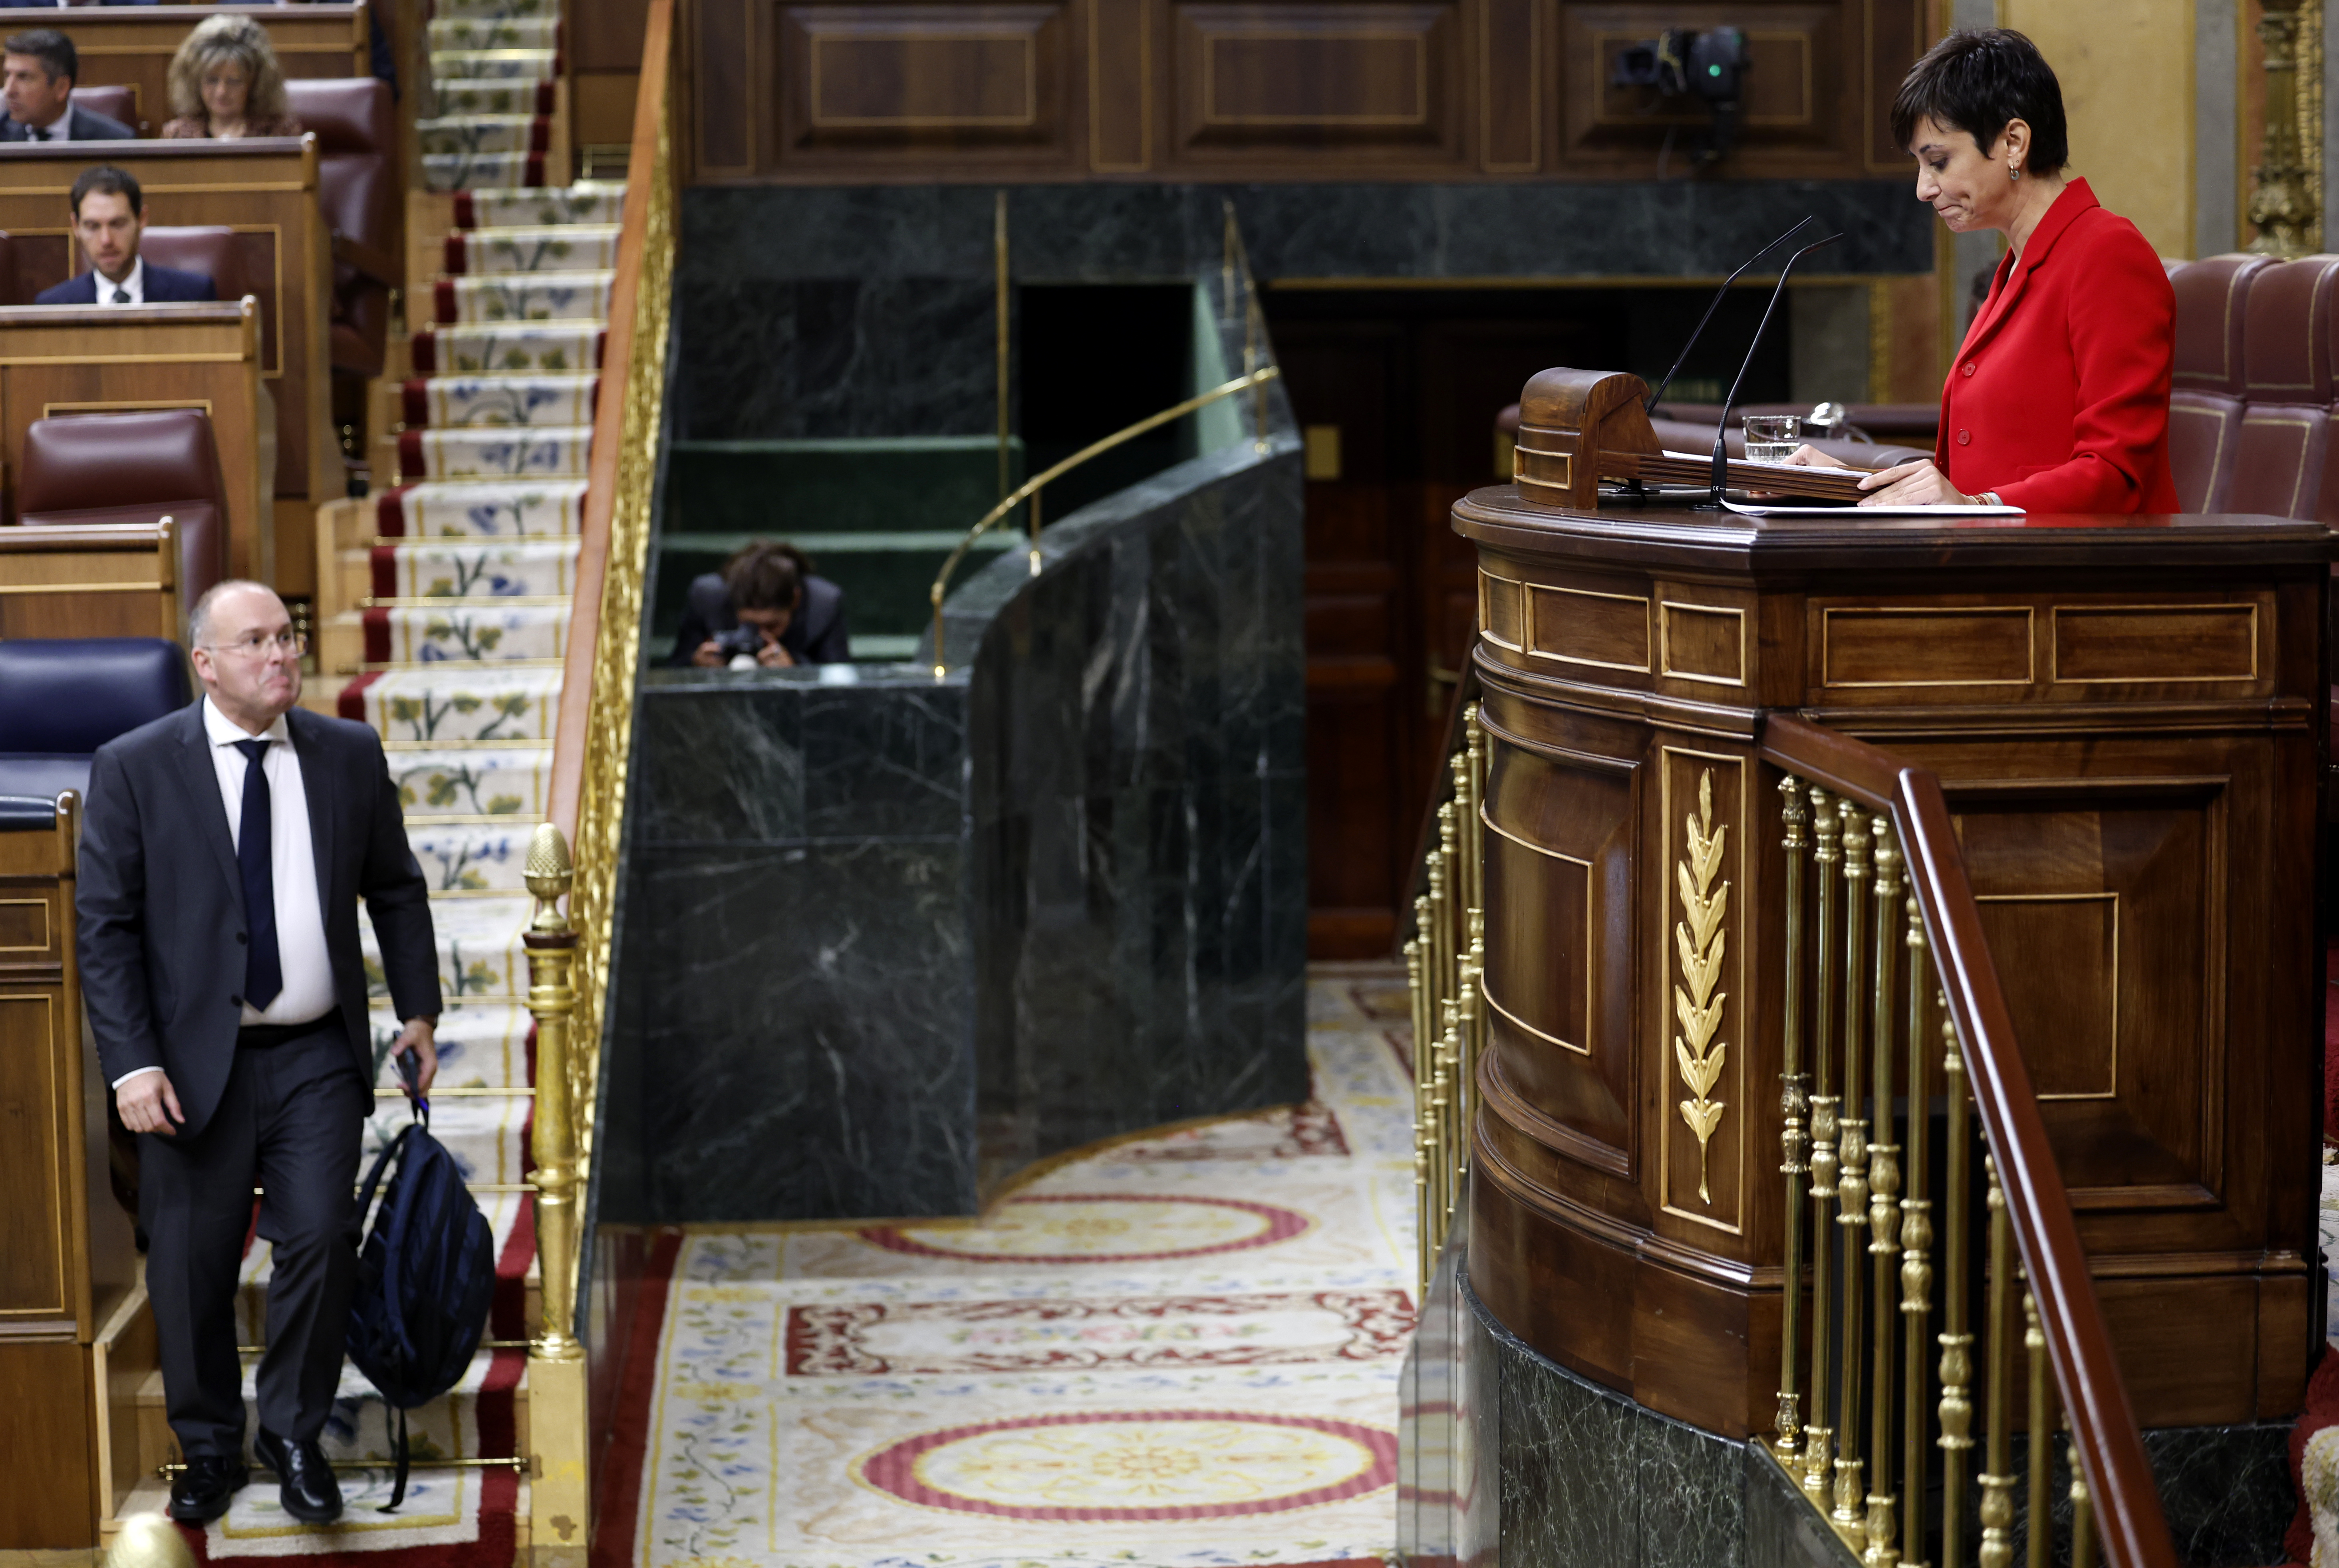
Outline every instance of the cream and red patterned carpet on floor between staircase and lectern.
[[1060, 1164], [980, 1222], [697, 1231], [641, 1568], [1380, 1563], [1413, 1330], [1403, 981], [1310, 986], [1315, 1098]]

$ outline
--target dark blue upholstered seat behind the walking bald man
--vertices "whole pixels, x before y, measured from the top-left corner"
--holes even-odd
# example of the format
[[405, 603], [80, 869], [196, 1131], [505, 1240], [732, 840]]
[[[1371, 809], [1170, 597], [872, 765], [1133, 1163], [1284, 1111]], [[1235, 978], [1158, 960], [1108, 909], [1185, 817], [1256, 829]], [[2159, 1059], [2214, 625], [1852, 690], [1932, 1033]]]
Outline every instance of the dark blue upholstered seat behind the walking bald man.
[[187, 654], [168, 638], [0, 643], [0, 795], [89, 790], [89, 757], [185, 708]]

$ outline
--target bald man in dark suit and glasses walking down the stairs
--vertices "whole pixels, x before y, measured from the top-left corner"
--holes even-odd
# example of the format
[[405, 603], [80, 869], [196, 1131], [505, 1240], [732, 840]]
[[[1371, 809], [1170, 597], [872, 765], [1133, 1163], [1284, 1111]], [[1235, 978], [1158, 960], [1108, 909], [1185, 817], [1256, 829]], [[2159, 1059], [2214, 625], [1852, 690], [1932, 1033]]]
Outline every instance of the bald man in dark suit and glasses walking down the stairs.
[[302, 638], [257, 582], [189, 617], [203, 699], [103, 745], [82, 823], [80, 960], [98, 1063], [138, 1133], [164, 1407], [201, 1524], [246, 1484], [236, 1271], [264, 1189], [274, 1246], [260, 1432], [283, 1507], [323, 1524], [318, 1446], [358, 1274], [356, 1182], [374, 1056], [358, 900], [416, 1059], [437, 1073], [428, 883], [372, 729], [297, 708]]

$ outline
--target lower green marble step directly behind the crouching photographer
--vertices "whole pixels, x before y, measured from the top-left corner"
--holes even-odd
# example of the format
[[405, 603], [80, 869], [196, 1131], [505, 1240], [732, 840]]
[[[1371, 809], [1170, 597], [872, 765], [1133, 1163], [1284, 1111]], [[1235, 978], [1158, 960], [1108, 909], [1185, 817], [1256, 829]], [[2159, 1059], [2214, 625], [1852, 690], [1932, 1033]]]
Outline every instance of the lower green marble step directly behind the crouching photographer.
[[[980, 516], [980, 512], [975, 514]], [[973, 519], [968, 519], [973, 521]], [[779, 537], [807, 556], [812, 568], [844, 589], [844, 626], [856, 643], [863, 636], [917, 638], [933, 615], [929, 589], [943, 561], [966, 533], [961, 528], [910, 528], [898, 533], [795, 533], [772, 535], [748, 533], [669, 533], [660, 540], [657, 598], [650, 605], [653, 659], [662, 659], [674, 643], [674, 631], [683, 619], [683, 598], [690, 580], [699, 573], [720, 570], [723, 563], [751, 537]], [[1022, 544], [1022, 533], [1006, 526], [975, 540], [973, 551], [959, 566], [952, 582], [964, 582], [992, 556]], [[877, 643], [872, 650], [891, 650], [893, 643]], [[898, 659], [898, 652], [868, 652], [858, 647], [854, 657]]]

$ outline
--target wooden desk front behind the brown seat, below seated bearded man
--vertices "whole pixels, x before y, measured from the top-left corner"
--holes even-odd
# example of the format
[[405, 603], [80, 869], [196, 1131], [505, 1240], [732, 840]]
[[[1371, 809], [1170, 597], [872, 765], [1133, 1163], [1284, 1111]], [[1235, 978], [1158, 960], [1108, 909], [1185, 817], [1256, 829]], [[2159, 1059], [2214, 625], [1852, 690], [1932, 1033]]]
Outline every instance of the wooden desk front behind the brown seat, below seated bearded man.
[[[260, 315], [243, 301], [0, 308], [0, 463], [9, 493], [23, 472], [26, 432], [37, 418], [201, 409], [211, 418], [227, 484], [227, 570], [274, 582], [276, 498], [269, 474], [276, 437], [262, 362]], [[16, 615], [28, 610], [14, 608]], [[65, 615], [61, 605], [42, 612]], [[87, 608], [73, 615], [87, 615]], [[178, 631], [140, 629], [136, 636]]]

